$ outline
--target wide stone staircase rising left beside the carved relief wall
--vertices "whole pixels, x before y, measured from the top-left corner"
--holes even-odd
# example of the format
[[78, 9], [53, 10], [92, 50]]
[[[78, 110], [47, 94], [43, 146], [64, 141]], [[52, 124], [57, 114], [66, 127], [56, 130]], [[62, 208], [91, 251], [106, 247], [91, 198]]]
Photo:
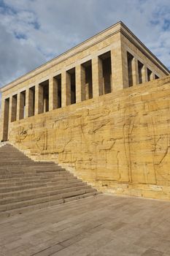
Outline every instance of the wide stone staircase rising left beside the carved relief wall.
[[0, 146], [0, 218], [97, 195], [54, 162], [34, 162], [14, 146]]

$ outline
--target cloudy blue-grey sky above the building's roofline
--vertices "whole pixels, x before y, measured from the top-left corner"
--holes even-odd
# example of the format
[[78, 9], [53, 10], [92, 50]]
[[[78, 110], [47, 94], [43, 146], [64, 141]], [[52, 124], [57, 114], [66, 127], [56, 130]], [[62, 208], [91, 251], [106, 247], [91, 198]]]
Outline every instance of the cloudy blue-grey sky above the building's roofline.
[[169, 0], [0, 0], [0, 87], [119, 20], [170, 68]]

